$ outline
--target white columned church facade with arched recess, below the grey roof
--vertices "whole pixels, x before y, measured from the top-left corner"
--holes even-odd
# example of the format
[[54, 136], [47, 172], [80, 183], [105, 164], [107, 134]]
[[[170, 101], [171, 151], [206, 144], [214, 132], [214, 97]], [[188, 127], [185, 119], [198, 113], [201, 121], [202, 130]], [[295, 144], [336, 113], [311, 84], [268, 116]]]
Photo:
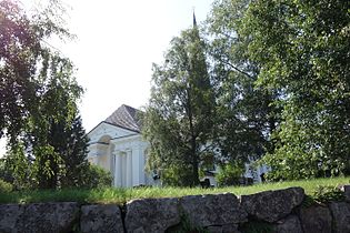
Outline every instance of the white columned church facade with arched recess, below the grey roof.
[[89, 134], [88, 159], [111, 171], [117, 186], [149, 185], [144, 172], [146, 150], [149, 143], [141, 134], [101, 123]]

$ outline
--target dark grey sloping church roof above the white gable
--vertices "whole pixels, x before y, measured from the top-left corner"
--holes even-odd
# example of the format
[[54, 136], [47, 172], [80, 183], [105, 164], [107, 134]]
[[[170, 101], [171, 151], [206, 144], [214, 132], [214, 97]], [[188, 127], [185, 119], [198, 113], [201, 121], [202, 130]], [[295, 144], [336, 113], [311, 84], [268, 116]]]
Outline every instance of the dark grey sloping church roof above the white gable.
[[141, 111], [132, 107], [122, 104], [103, 122], [121, 126], [127, 130], [140, 132], [140, 121], [137, 118], [138, 112]]

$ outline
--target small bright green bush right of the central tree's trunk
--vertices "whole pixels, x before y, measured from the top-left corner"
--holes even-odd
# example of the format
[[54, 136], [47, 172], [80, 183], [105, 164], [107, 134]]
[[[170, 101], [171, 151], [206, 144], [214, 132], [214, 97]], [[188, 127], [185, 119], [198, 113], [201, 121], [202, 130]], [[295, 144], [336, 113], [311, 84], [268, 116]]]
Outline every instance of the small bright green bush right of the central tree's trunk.
[[244, 173], [244, 166], [238, 163], [227, 163], [220, 166], [219, 173], [216, 175], [220, 186], [238, 185], [239, 179]]

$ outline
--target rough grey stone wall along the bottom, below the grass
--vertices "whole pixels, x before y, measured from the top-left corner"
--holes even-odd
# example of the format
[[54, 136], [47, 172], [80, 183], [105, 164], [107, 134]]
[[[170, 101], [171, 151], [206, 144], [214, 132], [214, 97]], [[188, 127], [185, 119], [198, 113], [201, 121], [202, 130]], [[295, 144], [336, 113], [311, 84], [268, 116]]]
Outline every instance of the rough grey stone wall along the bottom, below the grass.
[[8, 232], [213, 232], [350, 233], [350, 185], [346, 200], [303, 205], [304, 191], [290, 188], [237, 197], [231, 193], [114, 204], [74, 202], [0, 205], [0, 233]]

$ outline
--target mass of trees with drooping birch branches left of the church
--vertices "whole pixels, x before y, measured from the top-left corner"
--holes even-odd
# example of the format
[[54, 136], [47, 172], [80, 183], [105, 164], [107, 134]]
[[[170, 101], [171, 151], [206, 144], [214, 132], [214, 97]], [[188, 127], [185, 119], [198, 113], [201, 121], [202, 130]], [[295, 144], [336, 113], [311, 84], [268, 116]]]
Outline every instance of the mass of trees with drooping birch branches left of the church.
[[52, 10], [59, 2], [51, 3], [29, 16], [14, 1], [0, 1], [0, 136], [7, 133], [10, 149], [6, 163], [14, 180], [43, 189], [78, 185], [88, 165], [77, 108], [82, 88], [69, 59], [47, 42], [53, 36], [70, 37]]

